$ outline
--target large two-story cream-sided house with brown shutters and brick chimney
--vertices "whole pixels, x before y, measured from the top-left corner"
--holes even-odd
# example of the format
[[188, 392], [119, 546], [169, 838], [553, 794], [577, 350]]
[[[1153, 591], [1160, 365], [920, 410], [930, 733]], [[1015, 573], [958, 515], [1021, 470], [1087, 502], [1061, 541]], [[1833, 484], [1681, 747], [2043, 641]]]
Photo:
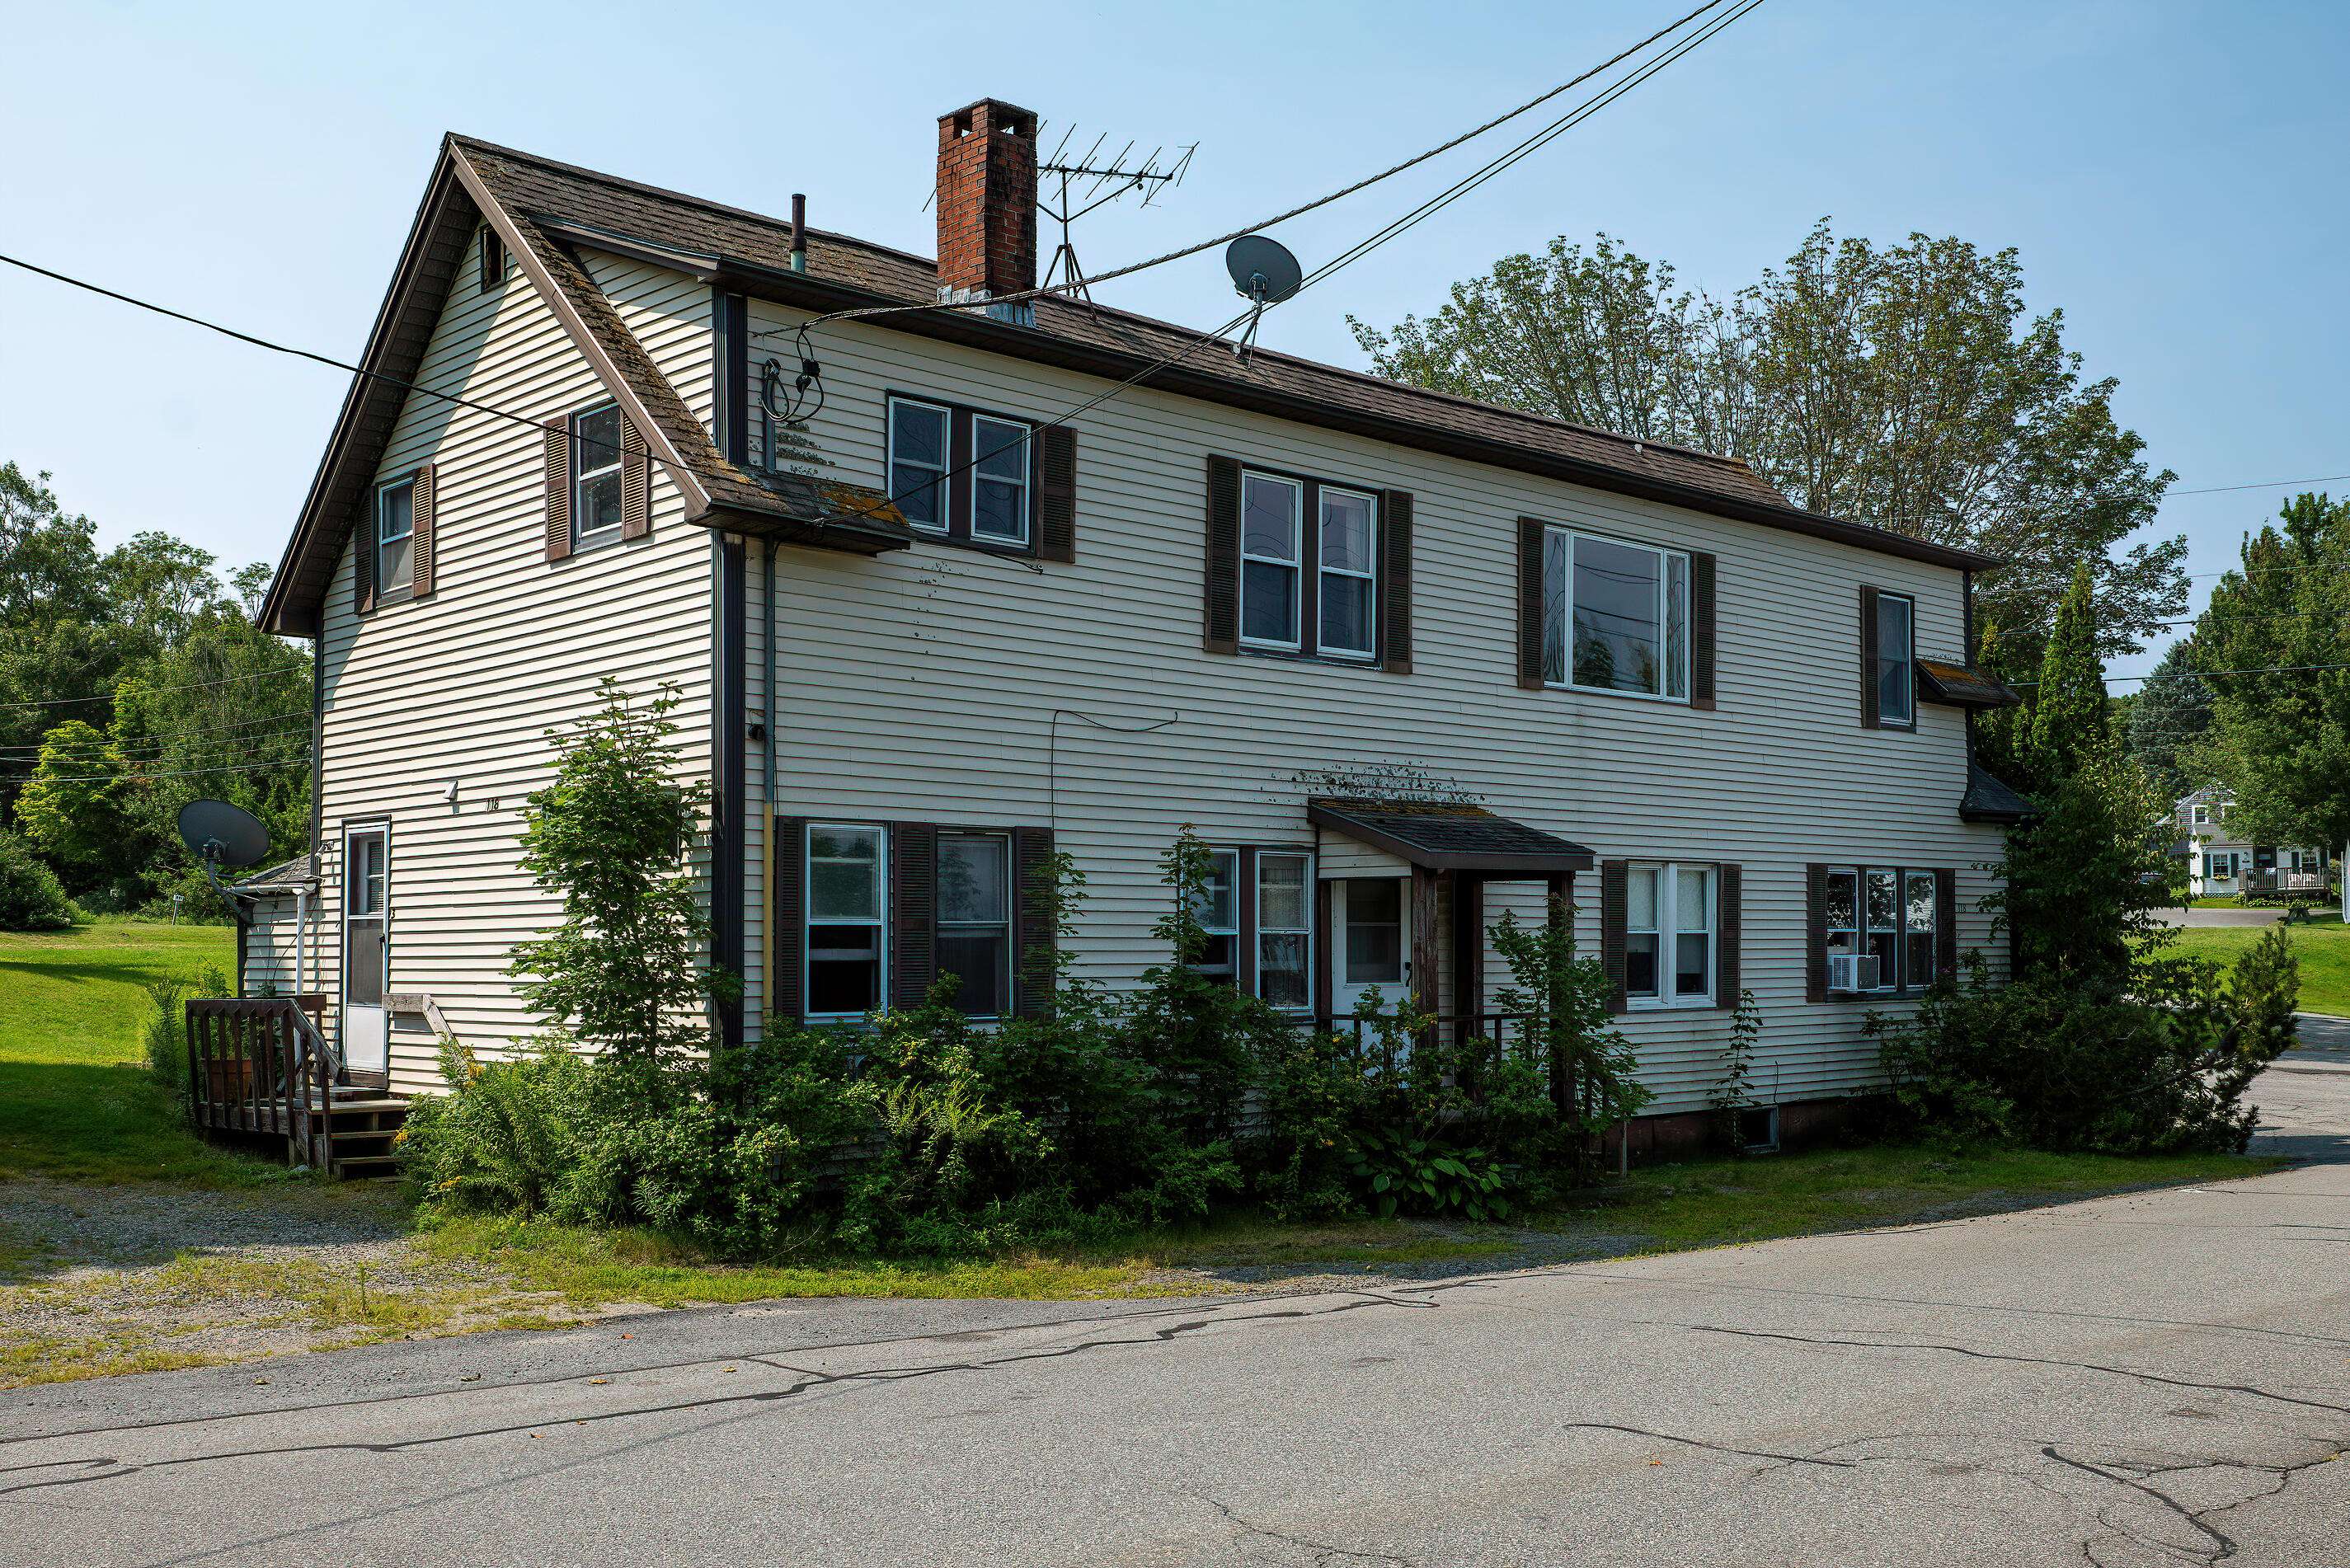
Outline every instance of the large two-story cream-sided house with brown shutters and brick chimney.
[[[540, 1027], [519, 806], [611, 675], [679, 691], [712, 785], [736, 1039], [940, 971], [1032, 1009], [1041, 940], [1133, 983], [1189, 823], [1210, 961], [1302, 1018], [1478, 1013], [1488, 922], [1560, 889], [1659, 1117], [1692, 1126], [1746, 990], [1772, 1103], [1875, 1086], [1866, 1013], [1990, 947], [1976, 867], [2028, 811], [1972, 762], [1969, 710], [2014, 701], [1969, 668], [1995, 562], [1744, 463], [1003, 301], [1034, 118], [938, 139], [938, 263], [444, 143], [263, 609], [317, 646], [306, 957], [355, 1077], [430, 1088], [432, 1018]], [[1055, 851], [1090, 898], [1041, 931]]]

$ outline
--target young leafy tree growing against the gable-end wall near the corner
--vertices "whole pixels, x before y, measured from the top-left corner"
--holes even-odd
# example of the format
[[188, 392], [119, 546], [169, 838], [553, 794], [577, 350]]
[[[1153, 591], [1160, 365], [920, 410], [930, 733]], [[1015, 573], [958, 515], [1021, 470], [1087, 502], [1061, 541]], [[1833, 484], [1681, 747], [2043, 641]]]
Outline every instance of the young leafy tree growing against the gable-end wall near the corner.
[[672, 689], [632, 705], [606, 677], [599, 693], [599, 712], [550, 731], [555, 783], [524, 806], [522, 867], [564, 917], [517, 943], [510, 973], [557, 1032], [656, 1065], [710, 1048], [705, 1001], [733, 985], [703, 964], [710, 919], [689, 867], [710, 788], [672, 776]]

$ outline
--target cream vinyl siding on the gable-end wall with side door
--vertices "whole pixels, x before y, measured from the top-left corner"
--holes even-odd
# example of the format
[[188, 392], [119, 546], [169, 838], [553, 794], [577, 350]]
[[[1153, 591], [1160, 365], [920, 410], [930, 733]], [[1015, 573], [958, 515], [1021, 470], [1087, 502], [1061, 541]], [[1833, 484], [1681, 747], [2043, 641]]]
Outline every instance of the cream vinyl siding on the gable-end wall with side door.
[[[609, 256], [588, 263], [686, 402], [707, 414], [707, 289]], [[472, 280], [468, 256], [418, 386], [538, 421], [604, 400], [519, 268], [494, 294]], [[634, 701], [672, 684], [677, 776], [707, 778], [712, 536], [684, 522], [656, 463], [649, 538], [548, 562], [538, 430], [411, 395], [381, 473], [423, 461], [439, 475], [435, 595], [357, 616], [345, 545], [327, 597], [322, 957], [331, 983], [343, 825], [388, 818], [390, 990], [430, 994], [458, 1039], [496, 1053], [540, 1030], [505, 966], [512, 945], [557, 914], [517, 846], [524, 795], [548, 778], [545, 731], [595, 712], [606, 675]], [[437, 1084], [435, 1041], [416, 1025], [395, 1020], [395, 1088]]]

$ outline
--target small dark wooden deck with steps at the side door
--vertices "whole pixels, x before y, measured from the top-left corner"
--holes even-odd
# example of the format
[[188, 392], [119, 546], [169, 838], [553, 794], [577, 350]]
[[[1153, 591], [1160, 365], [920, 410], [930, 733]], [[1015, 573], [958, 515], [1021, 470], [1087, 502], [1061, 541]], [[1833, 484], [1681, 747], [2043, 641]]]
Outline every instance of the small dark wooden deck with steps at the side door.
[[275, 1138], [287, 1164], [392, 1175], [409, 1103], [350, 1084], [317, 1027], [322, 997], [202, 997], [188, 1004], [188, 1100], [219, 1138]]

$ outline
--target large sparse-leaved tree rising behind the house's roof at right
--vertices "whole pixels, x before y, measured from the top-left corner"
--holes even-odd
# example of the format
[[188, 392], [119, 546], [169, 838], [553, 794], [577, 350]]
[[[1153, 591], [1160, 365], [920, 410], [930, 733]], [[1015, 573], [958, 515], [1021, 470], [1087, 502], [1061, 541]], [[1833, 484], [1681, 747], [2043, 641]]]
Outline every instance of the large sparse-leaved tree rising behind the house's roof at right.
[[2063, 313], [2026, 317], [2016, 252], [1812, 228], [1727, 299], [1600, 235], [1504, 256], [1434, 315], [1354, 322], [1382, 376], [1744, 458], [1798, 505], [2012, 562], [1988, 625], [2035, 646], [2075, 564], [2096, 578], [2101, 651], [2186, 607], [2186, 541], [2117, 552], [2171, 475], [2084, 381]]

